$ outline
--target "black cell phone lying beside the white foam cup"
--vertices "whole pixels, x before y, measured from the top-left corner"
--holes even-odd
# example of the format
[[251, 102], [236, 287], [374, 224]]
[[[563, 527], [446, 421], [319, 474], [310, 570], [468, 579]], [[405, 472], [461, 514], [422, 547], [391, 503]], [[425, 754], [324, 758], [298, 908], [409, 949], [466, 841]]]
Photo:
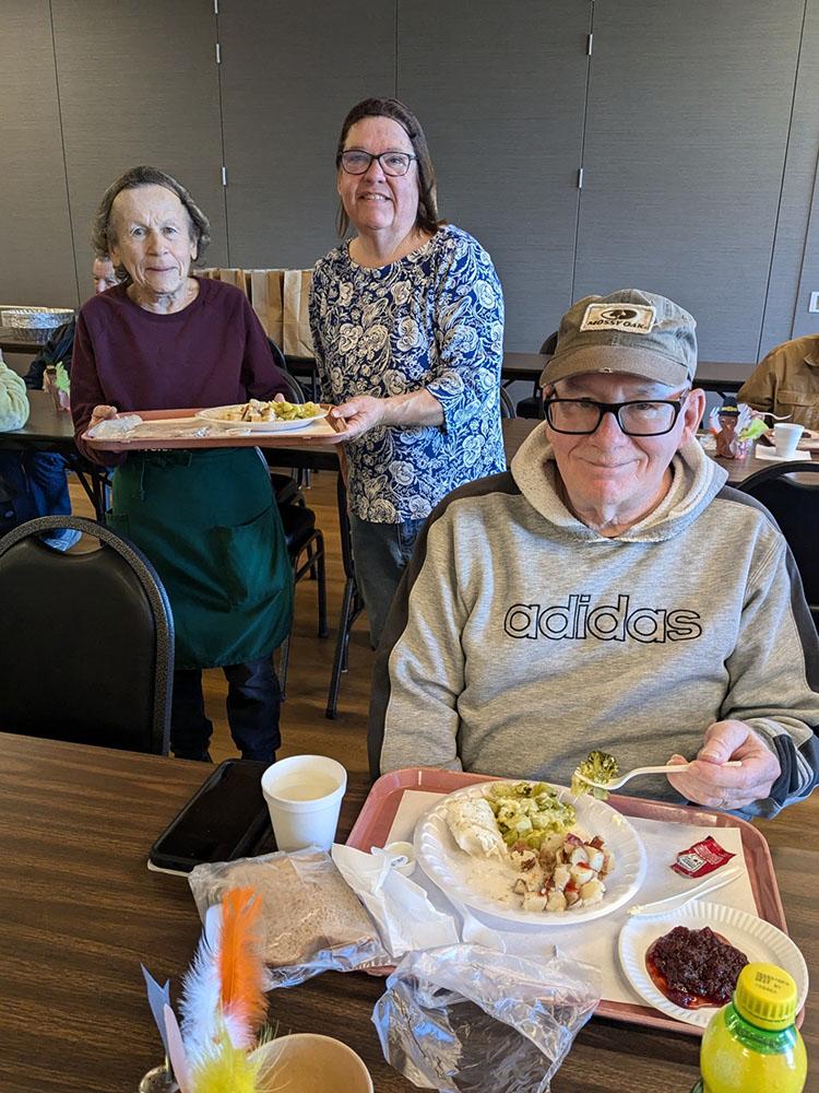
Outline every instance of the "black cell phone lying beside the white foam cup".
[[151, 847], [151, 862], [189, 873], [203, 861], [251, 854], [271, 832], [262, 794], [268, 765], [244, 759], [221, 763]]

